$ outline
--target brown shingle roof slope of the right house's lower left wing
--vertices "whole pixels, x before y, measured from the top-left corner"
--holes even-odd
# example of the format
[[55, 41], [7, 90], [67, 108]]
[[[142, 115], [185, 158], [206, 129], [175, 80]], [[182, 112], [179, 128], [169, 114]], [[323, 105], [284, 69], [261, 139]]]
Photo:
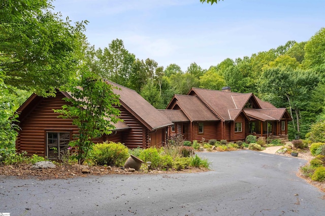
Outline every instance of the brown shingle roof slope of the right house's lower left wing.
[[208, 107], [206, 107], [197, 96], [175, 95], [177, 105], [182, 109], [190, 121], [217, 121]]

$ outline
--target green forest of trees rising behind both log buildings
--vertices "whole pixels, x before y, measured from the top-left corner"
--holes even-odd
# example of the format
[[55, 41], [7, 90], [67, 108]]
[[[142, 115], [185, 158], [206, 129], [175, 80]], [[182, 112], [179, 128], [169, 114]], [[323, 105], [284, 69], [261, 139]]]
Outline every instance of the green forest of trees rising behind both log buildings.
[[[19, 3], [19, 4], [18, 4]], [[173, 63], [139, 59], [121, 39], [95, 49], [87, 42], [87, 21], [71, 23], [47, 0], [0, 3], [0, 149], [15, 140], [15, 110], [31, 93], [52, 96], [82, 70], [137, 91], [156, 108], [166, 108], [174, 94], [192, 87], [254, 93], [293, 118], [290, 138], [304, 138], [310, 125], [325, 119], [325, 28], [308, 41], [250, 57], [226, 58], [210, 68], [191, 63], [185, 71]]]

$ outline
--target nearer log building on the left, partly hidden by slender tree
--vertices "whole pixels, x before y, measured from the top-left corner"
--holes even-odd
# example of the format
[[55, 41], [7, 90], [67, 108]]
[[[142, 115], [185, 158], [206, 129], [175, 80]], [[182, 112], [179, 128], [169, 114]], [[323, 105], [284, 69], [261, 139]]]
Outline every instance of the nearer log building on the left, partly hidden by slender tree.
[[[173, 123], [136, 91], [105, 80], [117, 87], [114, 93], [119, 95], [121, 113], [115, 129], [110, 135], [104, 135], [95, 142], [113, 141], [123, 143], [128, 148], [148, 148], [162, 146], [167, 141], [167, 128]], [[67, 102], [64, 97], [71, 97], [67, 92], [56, 92], [55, 97], [31, 95], [17, 110], [20, 131], [16, 140], [17, 152], [27, 155], [37, 154], [49, 159], [60, 159], [60, 152], [69, 147], [73, 135], [78, 134], [78, 127], [72, 119], [58, 118], [59, 113], [52, 109], [61, 109]], [[53, 147], [57, 150], [54, 151]]]

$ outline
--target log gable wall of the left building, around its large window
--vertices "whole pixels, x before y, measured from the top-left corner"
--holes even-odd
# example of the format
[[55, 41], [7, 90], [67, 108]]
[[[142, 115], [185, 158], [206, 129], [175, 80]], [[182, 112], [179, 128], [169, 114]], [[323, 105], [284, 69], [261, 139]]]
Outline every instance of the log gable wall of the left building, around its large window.
[[64, 96], [61, 93], [57, 93], [55, 98], [44, 98], [19, 124], [21, 131], [16, 142], [18, 152], [46, 156], [46, 131], [71, 132], [70, 139], [73, 134], [78, 134], [78, 127], [72, 124], [72, 119], [57, 118], [59, 114], [52, 110], [61, 109], [67, 104], [62, 98]]

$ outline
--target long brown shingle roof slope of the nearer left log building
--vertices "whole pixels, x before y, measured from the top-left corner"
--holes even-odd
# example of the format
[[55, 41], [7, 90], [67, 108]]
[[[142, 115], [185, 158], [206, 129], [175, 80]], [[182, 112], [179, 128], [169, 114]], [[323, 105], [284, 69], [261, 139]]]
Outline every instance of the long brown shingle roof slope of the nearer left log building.
[[164, 114], [160, 113], [136, 91], [108, 80], [106, 82], [118, 88], [113, 91], [120, 96], [119, 100], [121, 105], [131, 112], [150, 131], [173, 124]]

